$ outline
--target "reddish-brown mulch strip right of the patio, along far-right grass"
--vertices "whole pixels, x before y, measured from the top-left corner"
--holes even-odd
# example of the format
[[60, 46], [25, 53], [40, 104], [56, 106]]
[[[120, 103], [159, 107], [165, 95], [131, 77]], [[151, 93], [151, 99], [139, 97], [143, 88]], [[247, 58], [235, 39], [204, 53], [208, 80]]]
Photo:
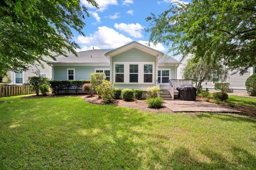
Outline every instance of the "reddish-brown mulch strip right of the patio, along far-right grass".
[[[199, 96], [197, 96], [196, 99], [197, 99], [197, 100], [205, 101], [205, 98], [201, 98], [201, 97], [199, 97]], [[213, 99], [210, 99], [210, 102], [214, 103], [214, 100], [213, 100]], [[233, 103], [233, 102], [230, 102], [230, 103]], [[233, 104], [234, 104], [234, 107], [228, 106], [226, 102], [221, 102], [220, 104], [221, 104], [221, 106], [223, 106], [223, 107], [241, 111], [241, 112], [243, 112], [244, 115], [247, 115], [247, 116], [256, 116], [256, 109], [254, 109], [254, 108], [252, 108], [252, 107], [244, 106], [244, 105], [237, 104], [237, 103], [233, 103]]]

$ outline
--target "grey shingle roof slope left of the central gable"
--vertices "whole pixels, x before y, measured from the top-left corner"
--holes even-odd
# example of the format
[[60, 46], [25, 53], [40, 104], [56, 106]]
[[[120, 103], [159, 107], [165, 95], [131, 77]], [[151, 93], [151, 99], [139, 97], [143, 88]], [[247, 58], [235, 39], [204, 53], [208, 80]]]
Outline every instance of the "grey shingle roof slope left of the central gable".
[[52, 63], [109, 63], [109, 59], [105, 56], [111, 50], [87, 50], [77, 52], [78, 57], [70, 54], [68, 57], [60, 56], [57, 61]]

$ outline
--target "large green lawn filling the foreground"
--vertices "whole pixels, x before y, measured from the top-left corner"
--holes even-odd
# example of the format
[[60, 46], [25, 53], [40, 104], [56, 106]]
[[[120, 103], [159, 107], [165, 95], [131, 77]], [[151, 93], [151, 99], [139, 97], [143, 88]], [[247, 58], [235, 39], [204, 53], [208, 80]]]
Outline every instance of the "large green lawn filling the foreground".
[[253, 117], [0, 100], [1, 169], [256, 169]]

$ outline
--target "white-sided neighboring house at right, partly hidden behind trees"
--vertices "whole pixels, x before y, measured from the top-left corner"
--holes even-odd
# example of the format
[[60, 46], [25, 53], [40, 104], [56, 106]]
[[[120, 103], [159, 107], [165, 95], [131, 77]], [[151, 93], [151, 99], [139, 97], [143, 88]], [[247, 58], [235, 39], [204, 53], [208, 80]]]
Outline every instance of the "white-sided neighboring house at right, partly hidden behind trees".
[[[189, 54], [180, 60], [181, 64], [177, 68], [178, 79], [183, 78], [183, 69], [187, 65], [187, 60], [191, 58], [192, 58], [192, 55]], [[225, 80], [225, 82], [230, 83], [230, 89], [234, 93], [247, 93], [245, 88], [246, 79], [252, 74], [254, 74], [255, 71], [256, 71], [255, 67], [249, 68], [244, 75], [240, 75], [239, 73], [234, 74], [234, 71], [228, 71], [228, 78]], [[203, 82], [202, 86], [203, 88], [207, 87], [210, 91], [214, 91], [215, 83], [219, 83], [218, 75], [213, 75], [213, 80], [209, 82]]]

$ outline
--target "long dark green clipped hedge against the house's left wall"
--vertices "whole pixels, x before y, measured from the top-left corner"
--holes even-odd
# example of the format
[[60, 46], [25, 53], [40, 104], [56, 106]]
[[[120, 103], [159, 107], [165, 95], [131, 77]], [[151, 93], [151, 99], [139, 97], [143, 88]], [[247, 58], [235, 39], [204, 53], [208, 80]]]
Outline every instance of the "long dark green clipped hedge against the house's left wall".
[[63, 90], [66, 93], [69, 90], [75, 90], [78, 93], [78, 90], [82, 90], [83, 84], [90, 83], [90, 80], [52, 80], [49, 83], [54, 94], [60, 94]]

